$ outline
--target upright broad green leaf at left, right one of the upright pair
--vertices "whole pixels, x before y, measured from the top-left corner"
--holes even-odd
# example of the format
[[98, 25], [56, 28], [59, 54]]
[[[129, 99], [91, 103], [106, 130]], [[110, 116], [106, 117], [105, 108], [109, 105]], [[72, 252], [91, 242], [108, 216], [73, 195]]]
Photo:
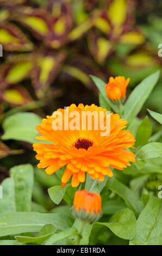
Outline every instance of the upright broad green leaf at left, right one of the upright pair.
[[10, 169], [15, 186], [16, 211], [31, 211], [34, 171], [31, 164], [21, 164]]

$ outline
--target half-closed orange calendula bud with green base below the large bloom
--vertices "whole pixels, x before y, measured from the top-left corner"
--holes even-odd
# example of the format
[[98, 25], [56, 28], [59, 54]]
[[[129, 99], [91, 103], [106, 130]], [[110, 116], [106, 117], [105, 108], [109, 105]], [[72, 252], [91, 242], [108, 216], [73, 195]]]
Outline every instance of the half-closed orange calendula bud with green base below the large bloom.
[[96, 221], [102, 214], [101, 196], [86, 190], [79, 190], [74, 195], [72, 213], [83, 221]]

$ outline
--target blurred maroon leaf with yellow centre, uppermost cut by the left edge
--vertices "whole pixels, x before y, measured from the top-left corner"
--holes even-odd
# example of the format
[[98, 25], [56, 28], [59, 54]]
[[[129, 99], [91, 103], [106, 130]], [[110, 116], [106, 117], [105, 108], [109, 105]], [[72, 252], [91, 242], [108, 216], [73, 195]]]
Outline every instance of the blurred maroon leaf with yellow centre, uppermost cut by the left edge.
[[32, 42], [20, 28], [9, 23], [0, 25], [0, 44], [7, 51], [30, 51], [33, 49]]

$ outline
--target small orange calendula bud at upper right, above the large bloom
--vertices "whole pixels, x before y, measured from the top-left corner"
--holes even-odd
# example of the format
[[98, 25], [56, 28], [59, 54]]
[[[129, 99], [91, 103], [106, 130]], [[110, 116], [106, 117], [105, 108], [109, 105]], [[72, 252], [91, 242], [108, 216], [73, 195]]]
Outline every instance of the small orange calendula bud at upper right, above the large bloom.
[[129, 81], [130, 78], [126, 80], [124, 76], [110, 77], [105, 87], [108, 98], [112, 101], [124, 99]]

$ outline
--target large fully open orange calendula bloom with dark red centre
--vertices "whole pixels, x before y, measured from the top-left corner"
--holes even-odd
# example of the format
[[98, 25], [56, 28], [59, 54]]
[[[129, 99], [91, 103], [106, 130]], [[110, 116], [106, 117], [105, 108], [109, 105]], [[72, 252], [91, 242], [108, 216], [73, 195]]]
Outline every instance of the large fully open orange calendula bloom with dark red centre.
[[[53, 130], [55, 129], [53, 121], [56, 120], [56, 114], [63, 114], [65, 121], [67, 111], [69, 117], [73, 115], [73, 112], [79, 114], [79, 125], [80, 123], [85, 124], [86, 120], [90, 119], [88, 116], [82, 122], [80, 118], [82, 113], [88, 114], [95, 111], [95, 117], [97, 117], [97, 113], [102, 112], [104, 113], [102, 123], [106, 119], [106, 109], [102, 107], [97, 107], [94, 104], [91, 106], [72, 104], [65, 110], [58, 109], [53, 115], [42, 119], [42, 123], [37, 126], [41, 136], [36, 138], [51, 143], [33, 144], [37, 153], [36, 159], [40, 161], [38, 168], [46, 168], [47, 174], [53, 174], [61, 167], [66, 166], [61, 178], [62, 187], [71, 178], [72, 187], [77, 187], [80, 182], [85, 181], [86, 173], [92, 179], [103, 181], [104, 175], [113, 176], [110, 167], [122, 170], [130, 166], [129, 161], [135, 162], [135, 155], [126, 150], [133, 147], [135, 139], [130, 131], [122, 130], [126, 127], [127, 121], [121, 119], [119, 114], [111, 113], [109, 115], [109, 135], [105, 136], [103, 136], [101, 128], [90, 130], [88, 125], [84, 129], [83, 127], [78, 127], [78, 130], [68, 129], [65, 126], [71, 124], [72, 118], [67, 119], [65, 126], [63, 125], [60, 130]], [[95, 117], [92, 118], [92, 123]], [[101, 122], [100, 119], [98, 121]]]

